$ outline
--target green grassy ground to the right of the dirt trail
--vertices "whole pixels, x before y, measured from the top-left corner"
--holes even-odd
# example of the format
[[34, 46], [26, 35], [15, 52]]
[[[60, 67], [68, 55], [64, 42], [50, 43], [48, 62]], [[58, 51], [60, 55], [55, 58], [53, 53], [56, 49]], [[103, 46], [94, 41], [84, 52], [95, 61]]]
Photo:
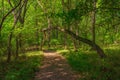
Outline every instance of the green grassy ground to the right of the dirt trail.
[[105, 48], [108, 56], [100, 57], [94, 51], [59, 51], [66, 57], [72, 69], [82, 75], [80, 80], [120, 80], [120, 49]]

